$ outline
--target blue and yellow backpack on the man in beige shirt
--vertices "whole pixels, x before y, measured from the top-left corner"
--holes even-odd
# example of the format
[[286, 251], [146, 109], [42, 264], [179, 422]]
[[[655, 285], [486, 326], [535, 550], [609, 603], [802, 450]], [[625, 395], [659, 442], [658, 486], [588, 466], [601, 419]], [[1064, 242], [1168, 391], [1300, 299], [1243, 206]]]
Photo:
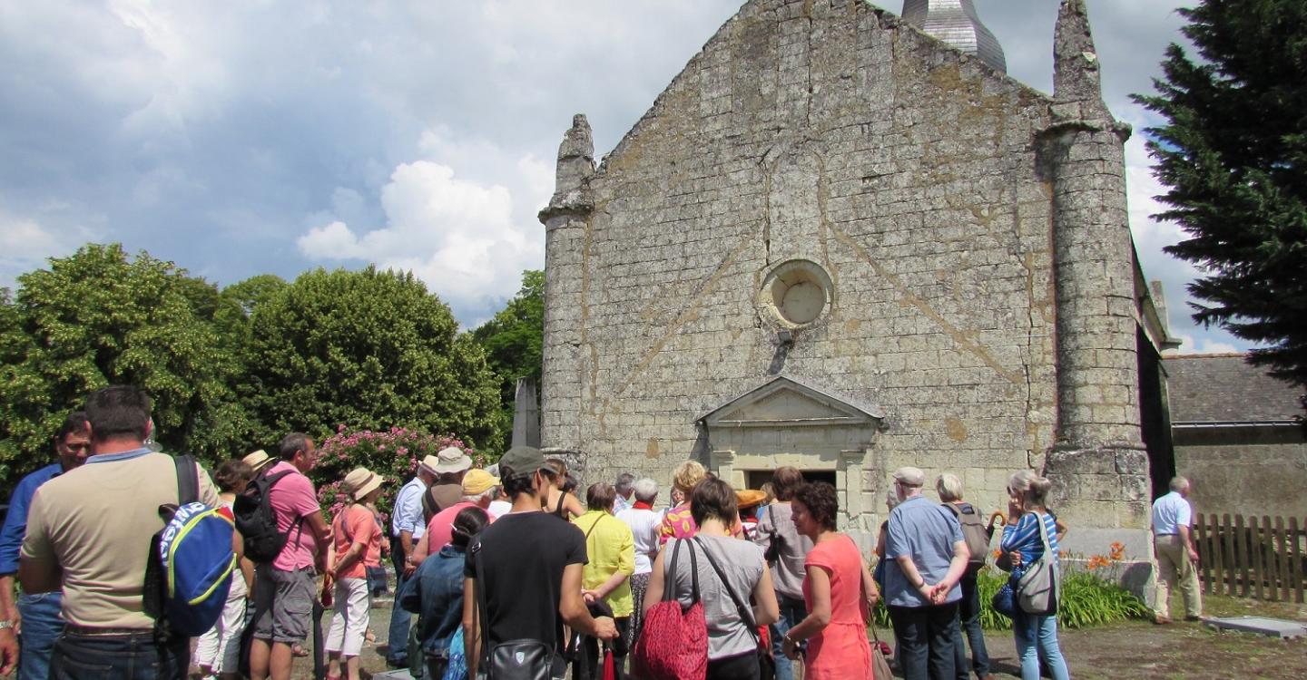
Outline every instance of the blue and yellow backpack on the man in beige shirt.
[[237, 566], [235, 525], [197, 500], [195, 459], [179, 456], [175, 461], [180, 502], [159, 505], [165, 525], [150, 540], [144, 607], [162, 636], [195, 637], [213, 628], [227, 602]]

